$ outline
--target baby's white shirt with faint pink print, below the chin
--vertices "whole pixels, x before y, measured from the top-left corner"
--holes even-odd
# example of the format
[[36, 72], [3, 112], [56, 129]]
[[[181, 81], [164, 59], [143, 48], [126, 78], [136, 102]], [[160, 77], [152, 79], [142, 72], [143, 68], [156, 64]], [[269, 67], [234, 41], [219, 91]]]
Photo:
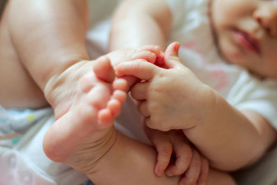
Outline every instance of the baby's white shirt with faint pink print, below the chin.
[[211, 33], [208, 3], [168, 0], [173, 17], [168, 44], [180, 42], [179, 55], [184, 65], [231, 105], [257, 112], [277, 129], [277, 81], [260, 80], [220, 58]]

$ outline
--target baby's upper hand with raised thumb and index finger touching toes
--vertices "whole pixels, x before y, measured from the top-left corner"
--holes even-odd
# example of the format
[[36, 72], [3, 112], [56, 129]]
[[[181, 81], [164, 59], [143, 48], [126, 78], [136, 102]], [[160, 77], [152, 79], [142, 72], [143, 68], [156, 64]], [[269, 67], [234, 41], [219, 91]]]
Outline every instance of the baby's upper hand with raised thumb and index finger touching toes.
[[116, 67], [117, 76], [136, 76], [142, 81], [131, 89], [139, 101], [139, 112], [152, 129], [168, 131], [190, 129], [203, 123], [215, 103], [213, 90], [204, 85], [190, 69], [181, 64], [179, 44], [168, 46], [168, 69], [150, 62], [125, 62]]

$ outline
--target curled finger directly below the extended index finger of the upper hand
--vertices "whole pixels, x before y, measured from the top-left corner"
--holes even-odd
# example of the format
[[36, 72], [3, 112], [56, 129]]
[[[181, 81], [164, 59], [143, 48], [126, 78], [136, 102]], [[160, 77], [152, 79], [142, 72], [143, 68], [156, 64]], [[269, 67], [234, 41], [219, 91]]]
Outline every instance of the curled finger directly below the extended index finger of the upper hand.
[[135, 100], [146, 100], [148, 98], [149, 82], [136, 83], [131, 89], [131, 95]]

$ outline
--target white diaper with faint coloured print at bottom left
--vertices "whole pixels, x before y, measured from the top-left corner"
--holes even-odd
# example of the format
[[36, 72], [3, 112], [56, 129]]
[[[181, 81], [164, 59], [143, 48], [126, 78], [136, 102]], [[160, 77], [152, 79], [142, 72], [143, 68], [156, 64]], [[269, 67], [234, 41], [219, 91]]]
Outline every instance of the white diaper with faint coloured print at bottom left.
[[44, 134], [55, 122], [51, 108], [0, 107], [0, 185], [78, 185], [87, 177], [44, 154]]

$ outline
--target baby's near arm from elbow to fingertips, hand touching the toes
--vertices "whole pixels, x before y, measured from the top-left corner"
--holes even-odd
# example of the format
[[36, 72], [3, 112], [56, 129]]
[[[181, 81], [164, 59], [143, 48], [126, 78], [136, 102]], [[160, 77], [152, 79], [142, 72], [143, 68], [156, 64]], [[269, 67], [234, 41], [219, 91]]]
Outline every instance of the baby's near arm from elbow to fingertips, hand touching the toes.
[[141, 100], [139, 110], [147, 117], [146, 124], [163, 131], [184, 129], [214, 168], [235, 170], [256, 161], [275, 141], [276, 131], [262, 116], [238, 111], [200, 82], [181, 64], [178, 48], [175, 43], [166, 50], [169, 69], [147, 62], [116, 67], [120, 76], [146, 80], [131, 90], [132, 96]]

